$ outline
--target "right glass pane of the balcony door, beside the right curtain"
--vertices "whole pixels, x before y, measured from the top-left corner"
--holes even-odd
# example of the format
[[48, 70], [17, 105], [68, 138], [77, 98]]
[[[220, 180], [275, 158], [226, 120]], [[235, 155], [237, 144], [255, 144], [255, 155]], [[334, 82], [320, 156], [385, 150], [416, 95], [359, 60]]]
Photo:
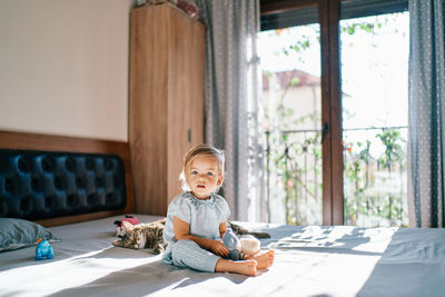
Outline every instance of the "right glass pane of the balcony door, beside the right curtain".
[[408, 12], [343, 19], [345, 224], [407, 226]]

